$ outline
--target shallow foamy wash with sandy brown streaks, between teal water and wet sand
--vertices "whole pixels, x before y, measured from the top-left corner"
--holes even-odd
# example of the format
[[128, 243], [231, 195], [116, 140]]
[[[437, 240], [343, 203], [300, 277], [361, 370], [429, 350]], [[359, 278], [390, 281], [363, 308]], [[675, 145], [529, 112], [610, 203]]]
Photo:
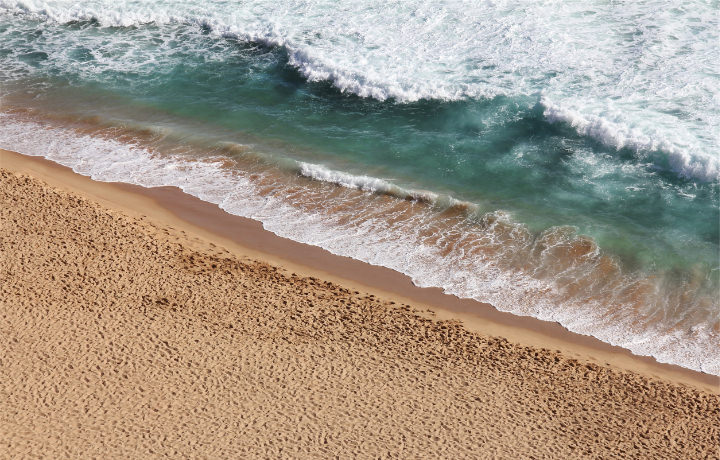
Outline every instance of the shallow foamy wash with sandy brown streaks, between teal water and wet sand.
[[[630, 272], [573, 227], [531, 232], [502, 210], [476, 209], [468, 218], [436, 206], [438, 195], [413, 201], [415, 192], [387, 180], [309, 163], [297, 163], [295, 174], [254, 160], [243, 164], [252, 149], [241, 145], [168, 154], [117, 134], [0, 115], [2, 148], [47, 157], [96, 180], [177, 186], [278, 235], [403, 272], [419, 286], [720, 375], [717, 299], [712, 286], [703, 287], [702, 271], [679, 283], [672, 273]], [[213, 149], [232, 149], [238, 159], [212, 156]]]

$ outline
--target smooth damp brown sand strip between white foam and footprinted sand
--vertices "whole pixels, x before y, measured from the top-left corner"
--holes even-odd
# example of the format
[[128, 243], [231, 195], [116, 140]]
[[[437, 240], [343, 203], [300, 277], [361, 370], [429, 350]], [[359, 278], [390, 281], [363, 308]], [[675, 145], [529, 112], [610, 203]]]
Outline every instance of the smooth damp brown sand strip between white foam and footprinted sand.
[[[91, 179], [43, 156], [25, 155], [0, 148], [0, 159], [8, 158], [8, 156], [12, 160], [19, 159], [23, 166], [18, 169], [32, 171], [37, 167], [36, 165], [39, 165], [43, 173], [51, 175], [53, 179], [57, 178], [58, 182], [63, 185], [65, 181], [62, 177], [63, 174], [77, 174], [86, 178], [85, 180], [106, 182]], [[28, 162], [29, 166], [26, 166]], [[10, 169], [15, 169], [17, 163], [12, 161], [12, 164]], [[0, 161], [0, 167], [3, 167], [2, 161]], [[569, 331], [557, 322], [502, 312], [490, 304], [462, 299], [442, 292], [439, 288], [416, 286], [407, 275], [396, 270], [367, 264], [356, 259], [348, 259], [317, 246], [281, 237], [265, 229], [260, 221], [230, 214], [213, 203], [183, 192], [178, 187], [144, 187], [115, 181], [108, 181], [107, 184], [113, 187], [109, 192], [93, 189], [94, 192], [99, 192], [98, 197], [107, 199], [108, 197], [104, 196], [105, 193], [115, 196], [114, 194], [118, 190], [115, 187], [119, 187], [120, 193], [128, 192], [148, 198], [163, 212], [169, 212], [179, 222], [188, 224], [189, 228], [207, 232], [207, 234], [203, 233], [206, 237], [219, 238], [217, 243], [222, 244], [229, 241], [251, 251], [258, 251], [259, 254], [267, 254], [270, 258], [287, 261], [286, 268], [292, 268], [304, 276], [323, 278], [330, 275], [331, 281], [341, 284], [346, 281], [351, 283], [350, 287], [367, 286], [368, 289], [371, 289], [371, 293], [377, 290], [376, 295], [389, 295], [390, 298], [398, 296], [394, 297], [398, 301], [410, 301], [411, 304], [414, 302], [416, 305], [432, 308], [438, 314], [437, 319], [459, 319], [463, 321], [465, 327], [484, 335], [498, 335], [498, 331], [500, 331], [501, 337], [527, 346], [560, 348], [561, 351], [565, 350], [581, 359], [590, 358], [598, 363], [609, 364], [653, 378], [669, 379], [711, 393], [720, 391], [718, 376], [677, 364], [661, 363], [653, 357], [633, 354], [626, 348], [610, 345], [592, 336]], [[112, 199], [109, 201], [114, 203]], [[122, 198], [118, 203], [122, 203]], [[132, 211], [141, 211], [143, 214], [150, 212], [148, 215], [151, 219], [154, 217], [152, 209], [131, 209]], [[162, 221], [165, 222], [164, 219]], [[237, 229], [242, 231], [239, 232]], [[500, 329], [498, 330], [496, 326], [491, 326], [493, 329], [489, 331], [484, 329], [483, 324], [487, 324], [484, 323], [485, 321], [499, 325]], [[495, 333], [493, 334], [493, 332]]]

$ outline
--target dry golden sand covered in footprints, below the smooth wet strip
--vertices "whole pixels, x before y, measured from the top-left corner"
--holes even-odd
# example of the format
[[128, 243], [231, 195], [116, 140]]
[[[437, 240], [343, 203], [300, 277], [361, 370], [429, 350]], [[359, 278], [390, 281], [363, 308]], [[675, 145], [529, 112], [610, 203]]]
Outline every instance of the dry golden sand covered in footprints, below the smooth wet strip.
[[720, 458], [713, 378], [431, 319], [3, 158], [2, 458]]

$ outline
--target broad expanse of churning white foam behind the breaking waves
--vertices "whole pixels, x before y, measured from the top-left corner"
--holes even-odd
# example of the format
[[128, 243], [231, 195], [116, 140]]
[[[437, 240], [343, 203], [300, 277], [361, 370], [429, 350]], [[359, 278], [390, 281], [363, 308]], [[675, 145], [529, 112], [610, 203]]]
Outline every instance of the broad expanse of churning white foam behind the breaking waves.
[[[0, 0], [0, 11], [60, 24], [200, 26], [282, 46], [308, 80], [379, 100], [542, 94], [552, 122], [636, 149], [682, 176], [718, 179], [720, 24], [709, 2], [670, 9], [659, 0], [623, 8], [600, 1]], [[62, 55], [67, 47], [56, 48]], [[152, 52], [172, 54], [162, 46]], [[93, 66], [65, 60], [58, 68], [74, 66], [88, 78], [157, 68], [146, 54], [94, 55]]]

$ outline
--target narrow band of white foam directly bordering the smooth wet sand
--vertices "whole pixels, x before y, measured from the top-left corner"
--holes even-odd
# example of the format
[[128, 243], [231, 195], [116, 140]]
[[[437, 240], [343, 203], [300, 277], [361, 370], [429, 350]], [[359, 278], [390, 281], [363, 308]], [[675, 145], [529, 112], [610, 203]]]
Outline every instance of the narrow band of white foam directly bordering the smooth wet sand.
[[[7, 128], [10, 125], [9, 120], [6, 118], [5, 121]], [[67, 136], [63, 135], [62, 131], [40, 129], [38, 125], [32, 123], [21, 123], [15, 126], [15, 129], [19, 133], [33, 132], [35, 136], [28, 139], [24, 146], [19, 143], [7, 145], [0, 142], [0, 148], [47, 158], [98, 181], [124, 182], [143, 187], [178, 187], [191, 196], [218, 205], [229, 214], [257, 220], [266, 230], [280, 237], [317, 246], [339, 256], [396, 270], [408, 276], [418, 287], [441, 288], [448, 295], [486, 302], [500, 311], [557, 322], [574, 333], [596, 337], [610, 345], [630, 350], [638, 356], [652, 356], [661, 363], [720, 375], [720, 362], [718, 362], [720, 358], [713, 352], [720, 349], [720, 338], [713, 333], [710, 325], [706, 331], [696, 328], [679, 336], [652, 329], [638, 333], [623, 322], [605, 321], [606, 324], [602, 324], [601, 318], [604, 312], [593, 308], [592, 305], [585, 306], [584, 311], [580, 312], [560, 308], [557, 305], [542, 305], [536, 301], [534, 304], [528, 303], [528, 296], [546, 289], [540, 285], [542, 283], [538, 283], [537, 286], [513, 284], [522, 283], [523, 280], [510, 279], [507, 276], [501, 278], [498, 272], [495, 272], [499, 282], [494, 286], [496, 289], [494, 293], [473, 291], [471, 295], [467, 295], [467, 286], [445, 276], [446, 274], [440, 270], [441, 267], [434, 265], [435, 273], [424, 270], [426, 264], [421, 264], [423, 260], [418, 257], [427, 257], [427, 254], [415, 254], [415, 259], [412, 260], [408, 255], [385, 257], [387, 253], [403, 254], [403, 243], [407, 242], [378, 241], [375, 249], [368, 250], [367, 248], [373, 243], [369, 239], [373, 237], [372, 234], [358, 237], [363, 244], [357, 244], [357, 241], [356, 244], [348, 245], [347, 241], [343, 244], [342, 234], [333, 234], [332, 238], [328, 238], [331, 232], [327, 231], [326, 225], [323, 226], [323, 222], [319, 221], [317, 216], [314, 218], [312, 215], [303, 214], [301, 210], [287, 206], [272, 197], [260, 196], [251, 180], [232, 174], [224, 169], [219, 161], [188, 162], [172, 157], [153, 157], [136, 146], [107, 139]], [[25, 137], [27, 138], [27, 135]], [[357, 230], [352, 229], [352, 232]], [[323, 234], [325, 238], [318, 238], [318, 235]], [[352, 243], [353, 235], [348, 238], [344, 239]], [[395, 246], [388, 249], [387, 244]], [[445, 271], [457, 271], [456, 267], [445, 267], [445, 269]], [[466, 275], [472, 276], [473, 273], [454, 274], [456, 279], [458, 276], [462, 279]], [[530, 310], [527, 306], [523, 308], [523, 304], [532, 308]]]

